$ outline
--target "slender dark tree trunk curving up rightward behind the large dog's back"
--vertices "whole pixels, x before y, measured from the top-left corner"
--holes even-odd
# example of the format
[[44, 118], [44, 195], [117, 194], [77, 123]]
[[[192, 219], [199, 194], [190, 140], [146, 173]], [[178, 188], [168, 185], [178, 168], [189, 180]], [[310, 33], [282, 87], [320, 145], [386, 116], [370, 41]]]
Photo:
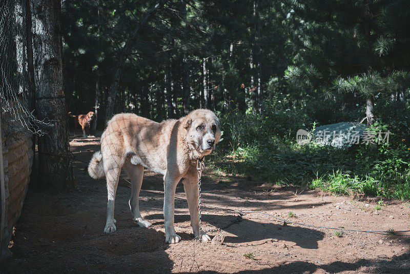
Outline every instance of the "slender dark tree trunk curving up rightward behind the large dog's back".
[[115, 98], [118, 93], [118, 86], [119, 80], [122, 74], [122, 68], [124, 67], [125, 61], [127, 60], [128, 54], [130, 54], [132, 47], [134, 46], [135, 40], [138, 35], [142, 31], [142, 27], [147, 24], [147, 22], [151, 19], [151, 17], [167, 3], [167, 0], [160, 0], [158, 4], [156, 4], [145, 17], [137, 24], [137, 27], [132, 32], [130, 38], [125, 43], [124, 48], [119, 53], [118, 61], [114, 69], [114, 75], [111, 80], [111, 85], [109, 89], [109, 96], [108, 96], [108, 104], [107, 104], [107, 111], [106, 111], [106, 123], [111, 119], [114, 113], [114, 104]]

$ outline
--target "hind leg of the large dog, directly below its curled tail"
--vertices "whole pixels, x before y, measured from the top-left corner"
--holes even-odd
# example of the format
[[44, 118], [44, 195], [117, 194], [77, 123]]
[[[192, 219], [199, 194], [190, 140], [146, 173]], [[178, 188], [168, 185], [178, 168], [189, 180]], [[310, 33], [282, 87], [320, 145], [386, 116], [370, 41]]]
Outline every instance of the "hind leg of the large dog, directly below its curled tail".
[[[105, 160], [104, 160], [105, 161]], [[121, 168], [117, 165], [110, 166], [109, 163], [105, 163], [105, 173], [107, 178], [107, 191], [108, 191], [108, 203], [107, 203], [107, 222], [106, 227], [104, 228], [105, 233], [112, 233], [117, 230], [115, 227], [114, 219], [114, 201], [115, 201], [115, 192], [117, 191], [119, 173]]]

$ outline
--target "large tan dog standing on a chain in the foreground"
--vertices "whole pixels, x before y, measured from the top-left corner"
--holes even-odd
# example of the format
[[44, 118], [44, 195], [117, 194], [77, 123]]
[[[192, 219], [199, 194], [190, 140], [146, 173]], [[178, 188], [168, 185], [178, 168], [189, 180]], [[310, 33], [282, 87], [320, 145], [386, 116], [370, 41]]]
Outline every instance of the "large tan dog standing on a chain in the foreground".
[[[142, 227], [151, 223], [142, 219], [138, 207], [144, 167], [164, 175], [165, 197], [163, 214], [167, 243], [177, 243], [180, 237], [174, 228], [175, 189], [181, 178], [187, 194], [191, 226], [199, 236], [197, 160], [208, 155], [219, 142], [219, 120], [207, 109], [197, 109], [179, 120], [162, 123], [131, 113], [115, 115], [101, 136], [101, 151], [94, 153], [88, 172], [94, 179], [107, 178], [108, 204], [105, 233], [116, 230], [114, 200], [119, 174], [124, 167], [131, 178], [129, 201], [133, 220]], [[202, 241], [211, 239], [206, 233]]]

